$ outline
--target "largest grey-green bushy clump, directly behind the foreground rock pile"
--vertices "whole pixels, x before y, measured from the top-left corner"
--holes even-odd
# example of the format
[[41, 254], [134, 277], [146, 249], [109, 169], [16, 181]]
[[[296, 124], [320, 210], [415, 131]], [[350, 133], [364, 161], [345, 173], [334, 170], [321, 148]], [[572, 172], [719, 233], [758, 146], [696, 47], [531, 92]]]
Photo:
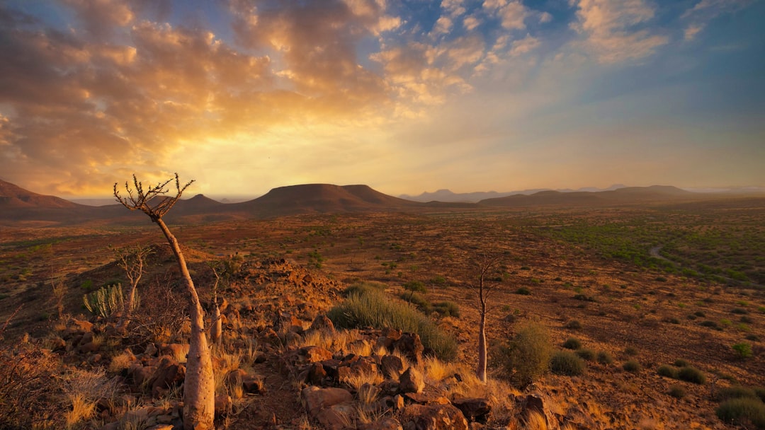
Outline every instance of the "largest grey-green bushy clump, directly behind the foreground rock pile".
[[420, 335], [422, 344], [435, 351], [441, 360], [451, 361], [457, 356], [454, 336], [438, 328], [430, 318], [406, 302], [392, 299], [380, 289], [364, 289], [352, 293], [339, 305], [327, 312], [339, 328], [398, 328]]

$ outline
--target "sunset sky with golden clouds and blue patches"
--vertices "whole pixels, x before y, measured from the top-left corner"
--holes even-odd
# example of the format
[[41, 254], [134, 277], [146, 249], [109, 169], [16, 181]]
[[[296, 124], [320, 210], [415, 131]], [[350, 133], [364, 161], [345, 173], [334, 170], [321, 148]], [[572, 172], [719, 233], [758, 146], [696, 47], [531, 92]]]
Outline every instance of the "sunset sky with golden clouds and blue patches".
[[765, 186], [762, 0], [0, 0], [0, 179]]

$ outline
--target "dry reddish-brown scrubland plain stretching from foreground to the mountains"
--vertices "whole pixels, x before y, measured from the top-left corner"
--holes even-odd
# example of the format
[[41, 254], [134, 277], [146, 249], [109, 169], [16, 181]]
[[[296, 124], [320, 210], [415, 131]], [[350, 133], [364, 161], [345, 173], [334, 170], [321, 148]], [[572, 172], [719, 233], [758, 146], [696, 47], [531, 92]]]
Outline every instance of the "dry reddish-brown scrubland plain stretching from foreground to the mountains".
[[[759, 410], [763, 389], [757, 387], [765, 385], [765, 210], [727, 205], [179, 225], [174, 231], [203, 301], [209, 302], [215, 281], [208, 263], [228, 264], [219, 286], [227, 306], [223, 342], [213, 355], [216, 392], [230, 403], [216, 422], [321, 428], [300, 406], [306, 383], [280, 372], [280, 357], [308, 346], [340, 357], [381, 356], [369, 330], [299, 334], [339, 304], [348, 286], [377, 283], [391, 301], [402, 297], [428, 312], [456, 341], [451, 363], [412, 363], [425, 376], [426, 392], [490, 399], [489, 428], [552, 428], [554, 420], [571, 428], [732, 428], [718, 415], [735, 421], [736, 411]], [[177, 386], [152, 390], [129, 376], [135, 360], [149, 365], [146, 357], [136, 358], [148, 345], [161, 350], [187, 339], [169, 250], [155, 246], [148, 258], [138, 286], [141, 308], [128, 335], [116, 336], [108, 320], [83, 309], [83, 294], [126, 284], [109, 245], [138, 243], [161, 244], [162, 238], [151, 226], [4, 229], [0, 322], [19, 309], [5, 328], [0, 355], [0, 420], [10, 428], [109, 422], [146, 428], [157, 417], [177, 419]], [[493, 366], [483, 385], [473, 376], [478, 312], [468, 286], [474, 258], [488, 252], [501, 256], [502, 267], [487, 319]], [[88, 318], [97, 327], [93, 353], [71, 337], [76, 321]], [[291, 329], [295, 325], [299, 329]], [[524, 357], [509, 352], [508, 340], [519, 333], [517, 339], [539, 338], [529, 335], [535, 325], [546, 328], [554, 371], [535, 374], [529, 384], [519, 365], [508, 365], [512, 354]], [[169, 352], [183, 362], [182, 352]], [[370, 388], [378, 378], [357, 373], [341, 381], [355, 396], [349, 425], [396, 415], [373, 407], [381, 399]], [[243, 388], [243, 379], [252, 385]], [[735, 395], [725, 391], [739, 388]], [[528, 393], [544, 399], [552, 418], [522, 413], [519, 399]], [[718, 408], [724, 410], [718, 414]], [[737, 424], [763, 428], [762, 417], [752, 413]]]

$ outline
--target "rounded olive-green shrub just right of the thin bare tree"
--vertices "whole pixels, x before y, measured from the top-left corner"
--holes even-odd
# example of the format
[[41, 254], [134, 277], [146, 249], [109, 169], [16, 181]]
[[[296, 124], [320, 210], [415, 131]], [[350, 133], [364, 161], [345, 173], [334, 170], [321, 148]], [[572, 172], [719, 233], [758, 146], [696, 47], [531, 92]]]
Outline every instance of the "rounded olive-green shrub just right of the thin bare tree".
[[516, 386], [526, 386], [549, 369], [552, 346], [548, 329], [526, 322], [509, 343], [500, 348], [499, 364]]

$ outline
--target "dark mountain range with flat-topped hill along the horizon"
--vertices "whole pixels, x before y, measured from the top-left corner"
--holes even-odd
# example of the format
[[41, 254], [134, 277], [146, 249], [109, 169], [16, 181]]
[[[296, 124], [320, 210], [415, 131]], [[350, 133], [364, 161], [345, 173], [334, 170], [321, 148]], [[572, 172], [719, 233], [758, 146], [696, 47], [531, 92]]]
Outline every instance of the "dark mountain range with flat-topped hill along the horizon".
[[[257, 199], [223, 203], [201, 194], [182, 199], [168, 213], [168, 221], [202, 223], [235, 219], [275, 218], [285, 215], [343, 212], [428, 212], [434, 210], [498, 209], [521, 207], [621, 207], [666, 205], [754, 196], [765, 205], [765, 194], [699, 193], [674, 186], [610, 186], [604, 190], [526, 190], [515, 193], [448, 190], [423, 193], [418, 202], [378, 192], [366, 185], [306, 184], [272, 189]], [[478, 202], [470, 202], [480, 198]], [[758, 200], [759, 201], [759, 200]], [[122, 205], [80, 205], [55, 196], [43, 196], [0, 180], [0, 221], [5, 225], [74, 225], [83, 222], [136, 224], [145, 220]]]

